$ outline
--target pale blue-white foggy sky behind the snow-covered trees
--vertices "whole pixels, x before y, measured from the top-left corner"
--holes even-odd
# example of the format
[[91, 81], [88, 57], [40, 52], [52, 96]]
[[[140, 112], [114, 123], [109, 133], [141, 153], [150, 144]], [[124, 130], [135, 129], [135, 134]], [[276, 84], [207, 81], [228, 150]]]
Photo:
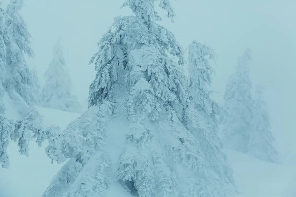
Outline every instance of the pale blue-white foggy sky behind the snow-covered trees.
[[[8, 1], [8, 0], [6, 0]], [[82, 101], [95, 72], [88, 65], [96, 43], [118, 15], [124, 0], [26, 0], [22, 15], [32, 35], [40, 82], [59, 37], [65, 48], [73, 91]], [[237, 57], [252, 49], [253, 84], [266, 88], [272, 129], [281, 150], [295, 141], [296, 120], [296, 0], [177, 0], [175, 23], [162, 24], [175, 33], [183, 48], [192, 40], [210, 45], [217, 54], [214, 98], [223, 91]], [[163, 15], [164, 16], [164, 15]], [[295, 150], [291, 150], [295, 151]]]

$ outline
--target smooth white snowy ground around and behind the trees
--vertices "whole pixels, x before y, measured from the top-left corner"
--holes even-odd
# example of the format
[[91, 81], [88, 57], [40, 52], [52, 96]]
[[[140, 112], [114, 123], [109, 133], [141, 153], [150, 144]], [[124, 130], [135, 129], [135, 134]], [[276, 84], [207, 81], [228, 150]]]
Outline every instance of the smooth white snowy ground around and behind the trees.
[[[37, 110], [44, 116], [46, 125], [58, 125], [61, 129], [79, 116], [41, 107]], [[44, 147], [39, 148], [32, 142], [30, 156], [26, 158], [18, 154], [15, 143], [10, 144], [10, 168], [0, 168], [0, 197], [42, 196], [50, 180], [62, 166], [50, 163]], [[296, 167], [260, 161], [231, 150], [226, 150], [226, 154], [242, 197], [296, 197]], [[114, 185], [107, 192], [107, 197], [117, 197], [119, 194], [123, 197], [122, 190], [120, 186]]]

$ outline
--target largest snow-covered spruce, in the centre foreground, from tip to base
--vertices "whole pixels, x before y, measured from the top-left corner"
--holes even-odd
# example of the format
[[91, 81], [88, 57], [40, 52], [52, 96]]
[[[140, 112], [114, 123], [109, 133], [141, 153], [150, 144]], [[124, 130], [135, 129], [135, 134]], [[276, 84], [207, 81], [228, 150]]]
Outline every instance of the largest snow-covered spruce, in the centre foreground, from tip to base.
[[[89, 109], [63, 132], [61, 151], [49, 154], [70, 160], [43, 197], [104, 196], [116, 184], [138, 197], [235, 196], [187, 128], [186, 110], [195, 106], [180, 66], [182, 49], [156, 23], [154, 3], [126, 1], [136, 16], [116, 18], [98, 43]], [[169, 1], [159, 6], [173, 19]]]

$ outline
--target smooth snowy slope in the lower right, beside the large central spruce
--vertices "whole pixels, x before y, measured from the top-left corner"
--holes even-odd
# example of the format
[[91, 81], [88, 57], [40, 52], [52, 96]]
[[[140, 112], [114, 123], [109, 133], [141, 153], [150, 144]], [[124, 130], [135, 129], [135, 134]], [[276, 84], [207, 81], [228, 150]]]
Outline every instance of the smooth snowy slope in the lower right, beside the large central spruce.
[[296, 197], [296, 168], [225, 152], [243, 197]]

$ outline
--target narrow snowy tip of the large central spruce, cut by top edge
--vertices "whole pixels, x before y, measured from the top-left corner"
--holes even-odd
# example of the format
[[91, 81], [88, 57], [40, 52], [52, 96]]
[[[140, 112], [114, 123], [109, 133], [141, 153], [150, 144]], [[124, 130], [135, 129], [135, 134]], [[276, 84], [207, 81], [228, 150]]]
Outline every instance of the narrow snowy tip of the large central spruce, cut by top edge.
[[[161, 21], [161, 17], [155, 11], [156, 0], [126, 0], [122, 7], [129, 6], [135, 15], [147, 22], [149, 21]], [[171, 7], [169, 0], [157, 0], [159, 1], [159, 7], [167, 11], [167, 17], [171, 18], [174, 22], [175, 12]]]

